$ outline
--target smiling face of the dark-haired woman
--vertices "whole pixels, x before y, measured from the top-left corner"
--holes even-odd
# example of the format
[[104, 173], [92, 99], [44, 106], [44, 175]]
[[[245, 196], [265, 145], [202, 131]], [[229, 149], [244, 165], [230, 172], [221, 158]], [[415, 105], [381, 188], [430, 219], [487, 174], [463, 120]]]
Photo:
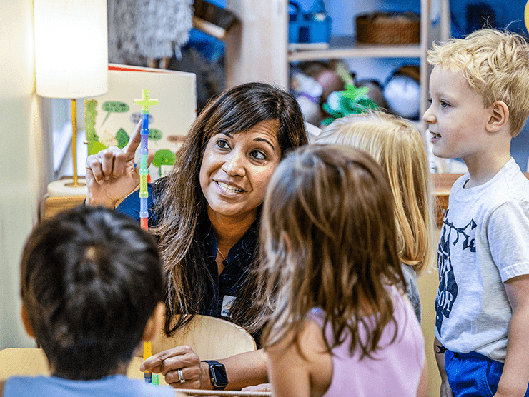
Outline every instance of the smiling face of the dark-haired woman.
[[238, 217], [257, 212], [281, 159], [277, 120], [237, 134], [212, 136], [200, 167], [200, 187], [210, 210]]

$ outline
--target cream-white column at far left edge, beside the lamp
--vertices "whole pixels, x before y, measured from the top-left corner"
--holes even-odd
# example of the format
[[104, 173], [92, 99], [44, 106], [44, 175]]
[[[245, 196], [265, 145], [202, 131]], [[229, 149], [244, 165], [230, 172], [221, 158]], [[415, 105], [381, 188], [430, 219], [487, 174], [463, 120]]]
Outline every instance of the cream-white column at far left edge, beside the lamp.
[[0, 349], [34, 347], [20, 319], [22, 247], [53, 174], [34, 89], [33, 1], [0, 0]]

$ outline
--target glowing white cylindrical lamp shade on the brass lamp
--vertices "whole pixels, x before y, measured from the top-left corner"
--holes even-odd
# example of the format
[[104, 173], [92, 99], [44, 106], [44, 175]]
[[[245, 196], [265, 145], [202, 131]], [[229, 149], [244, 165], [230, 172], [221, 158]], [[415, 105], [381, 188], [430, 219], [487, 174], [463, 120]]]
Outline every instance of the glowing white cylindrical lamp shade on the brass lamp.
[[107, 0], [34, 0], [36, 93], [85, 98], [108, 91]]

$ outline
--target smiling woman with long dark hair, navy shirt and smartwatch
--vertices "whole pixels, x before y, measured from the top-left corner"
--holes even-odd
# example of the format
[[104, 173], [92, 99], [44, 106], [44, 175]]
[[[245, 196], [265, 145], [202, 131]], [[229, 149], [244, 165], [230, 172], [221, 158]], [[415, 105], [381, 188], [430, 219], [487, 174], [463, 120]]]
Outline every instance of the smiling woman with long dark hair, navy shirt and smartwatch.
[[[116, 208], [139, 221], [139, 128], [122, 150], [86, 159], [87, 205]], [[300, 106], [264, 83], [227, 89], [190, 127], [171, 174], [149, 184], [149, 226], [159, 239], [167, 275], [168, 336], [194, 315], [225, 318], [259, 343], [263, 308], [254, 294], [259, 216], [272, 173], [287, 151], [307, 144]], [[152, 159], [149, 154], [149, 161]], [[140, 368], [179, 388], [238, 390], [267, 382], [262, 350], [219, 360], [227, 385], [211, 382], [209, 363], [189, 346], [148, 358]], [[211, 368], [214, 371], [214, 368]], [[184, 382], [182, 383], [182, 379]]]

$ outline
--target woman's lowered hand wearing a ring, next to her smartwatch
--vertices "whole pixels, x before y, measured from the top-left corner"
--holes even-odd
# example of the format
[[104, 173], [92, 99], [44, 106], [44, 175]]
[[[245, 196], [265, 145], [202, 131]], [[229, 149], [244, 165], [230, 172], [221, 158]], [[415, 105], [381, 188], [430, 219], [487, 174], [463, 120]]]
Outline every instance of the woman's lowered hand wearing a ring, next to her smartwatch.
[[[160, 351], [147, 358], [139, 370], [162, 373], [167, 384], [174, 388], [206, 388], [209, 375], [202, 373], [202, 364], [197, 353], [189, 346], [177, 346]], [[209, 367], [204, 367], [209, 371]]]

